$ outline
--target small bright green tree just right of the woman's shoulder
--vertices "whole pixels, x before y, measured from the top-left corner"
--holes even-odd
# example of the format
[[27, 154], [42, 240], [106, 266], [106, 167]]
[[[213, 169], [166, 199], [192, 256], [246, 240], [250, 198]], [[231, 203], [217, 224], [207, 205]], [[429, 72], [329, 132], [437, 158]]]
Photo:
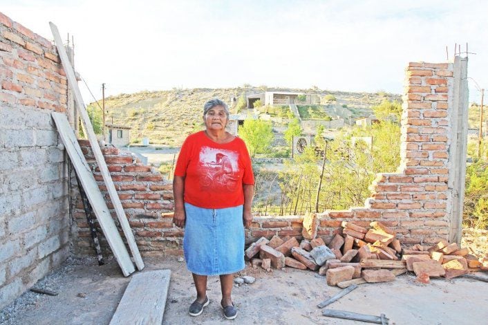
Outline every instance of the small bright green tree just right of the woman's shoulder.
[[270, 149], [273, 141], [273, 130], [270, 121], [247, 118], [238, 129], [239, 136], [244, 140], [251, 157], [263, 154]]

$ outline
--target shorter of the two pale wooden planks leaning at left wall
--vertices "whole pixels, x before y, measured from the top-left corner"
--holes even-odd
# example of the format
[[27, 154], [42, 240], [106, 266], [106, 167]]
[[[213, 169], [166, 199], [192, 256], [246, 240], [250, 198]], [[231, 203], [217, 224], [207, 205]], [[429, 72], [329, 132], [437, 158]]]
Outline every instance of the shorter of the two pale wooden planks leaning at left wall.
[[57, 131], [59, 131], [59, 136], [61, 136], [64, 147], [68, 151], [71, 163], [75, 167], [79, 181], [82, 183], [86, 196], [88, 196], [88, 201], [90, 201], [98, 223], [100, 223], [100, 228], [102, 228], [106, 240], [109, 242], [113, 255], [122, 269], [122, 273], [127, 277], [135, 271], [134, 265], [129, 256], [129, 252], [125, 248], [122, 237], [120, 237], [117, 227], [115, 227], [102, 192], [100, 192], [97, 182], [91, 173], [91, 169], [88, 163], [86, 163], [86, 159], [82, 153], [82, 149], [79, 147], [75, 133], [71, 129], [68, 118], [62, 113], [53, 112], [51, 115], [56, 123]]

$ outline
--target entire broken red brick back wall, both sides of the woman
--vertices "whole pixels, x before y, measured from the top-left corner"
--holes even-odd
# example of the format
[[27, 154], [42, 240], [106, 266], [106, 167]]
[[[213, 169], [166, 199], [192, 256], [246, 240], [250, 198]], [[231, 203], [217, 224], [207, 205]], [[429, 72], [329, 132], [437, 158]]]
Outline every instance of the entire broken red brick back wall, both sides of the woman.
[[[377, 176], [371, 186], [372, 196], [364, 207], [319, 214], [319, 236], [328, 242], [333, 235], [341, 233], [341, 221], [362, 226], [382, 221], [397, 230], [404, 244], [429, 244], [449, 239], [451, 189], [447, 180], [452, 89], [453, 64], [409, 64], [398, 172]], [[93, 160], [88, 148], [84, 150], [88, 160]], [[163, 183], [160, 176], [154, 174], [157, 171], [134, 165], [134, 158], [129, 154], [112, 149], [106, 151], [106, 155], [140, 249], [145, 254], [181, 254], [182, 231], [171, 222], [171, 185]], [[94, 172], [95, 178], [102, 180]], [[154, 176], [145, 178], [144, 175]], [[79, 204], [77, 201], [77, 228], [73, 232], [73, 238], [78, 238], [76, 252], [93, 254]], [[274, 234], [301, 237], [302, 221], [303, 216], [255, 218], [246, 232], [247, 242]]]

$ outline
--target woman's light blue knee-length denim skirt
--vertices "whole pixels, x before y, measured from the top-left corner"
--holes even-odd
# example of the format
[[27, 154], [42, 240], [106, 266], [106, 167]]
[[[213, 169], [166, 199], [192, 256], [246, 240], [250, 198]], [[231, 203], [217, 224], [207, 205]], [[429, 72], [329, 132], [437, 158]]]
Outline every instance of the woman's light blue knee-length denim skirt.
[[196, 275], [228, 275], [244, 269], [243, 206], [205, 209], [185, 203], [183, 252]]

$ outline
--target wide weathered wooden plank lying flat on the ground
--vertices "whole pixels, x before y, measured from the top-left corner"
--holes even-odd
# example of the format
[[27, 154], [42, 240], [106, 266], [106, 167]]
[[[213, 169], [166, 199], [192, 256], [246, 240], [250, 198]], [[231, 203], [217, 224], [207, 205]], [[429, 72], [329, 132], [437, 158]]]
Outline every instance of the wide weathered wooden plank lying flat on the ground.
[[110, 324], [161, 324], [170, 277], [170, 270], [133, 275]]

